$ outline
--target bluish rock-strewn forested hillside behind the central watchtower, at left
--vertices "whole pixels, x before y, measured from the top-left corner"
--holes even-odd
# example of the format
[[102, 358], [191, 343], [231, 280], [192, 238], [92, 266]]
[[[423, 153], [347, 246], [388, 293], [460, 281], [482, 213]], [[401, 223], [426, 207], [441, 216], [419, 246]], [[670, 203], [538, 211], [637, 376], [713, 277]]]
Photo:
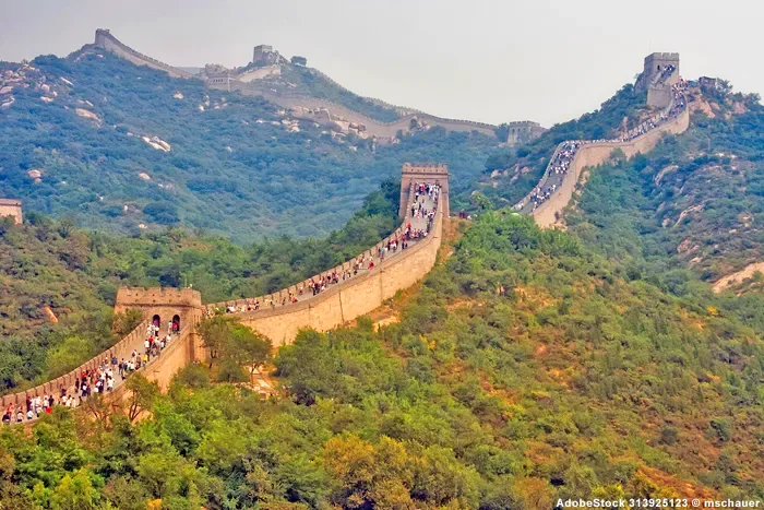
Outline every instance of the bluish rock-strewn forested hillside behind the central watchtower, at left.
[[498, 143], [442, 129], [393, 146], [338, 140], [262, 99], [92, 49], [0, 63], [0, 75], [11, 87], [0, 96], [0, 195], [109, 232], [322, 236], [403, 163], [446, 163], [464, 190]]

